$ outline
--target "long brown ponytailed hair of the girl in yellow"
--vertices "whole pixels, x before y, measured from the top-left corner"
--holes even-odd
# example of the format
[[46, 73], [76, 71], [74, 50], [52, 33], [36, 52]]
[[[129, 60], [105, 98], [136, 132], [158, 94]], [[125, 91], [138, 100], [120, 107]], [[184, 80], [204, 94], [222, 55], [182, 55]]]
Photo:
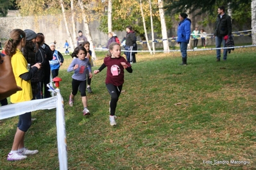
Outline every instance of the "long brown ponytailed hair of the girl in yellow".
[[8, 56], [12, 57], [16, 53], [16, 48], [22, 38], [26, 38], [26, 34], [21, 29], [13, 29], [10, 32], [10, 38], [4, 44], [4, 51]]

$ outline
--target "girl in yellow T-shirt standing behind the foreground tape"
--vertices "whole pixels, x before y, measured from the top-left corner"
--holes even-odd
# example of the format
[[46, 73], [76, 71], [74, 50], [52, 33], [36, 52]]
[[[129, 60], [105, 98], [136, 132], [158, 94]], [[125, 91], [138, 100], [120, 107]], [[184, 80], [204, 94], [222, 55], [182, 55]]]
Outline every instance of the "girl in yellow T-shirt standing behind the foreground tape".
[[[6, 54], [12, 57], [12, 68], [17, 86], [22, 88], [21, 91], [11, 95], [12, 104], [30, 101], [32, 99], [32, 89], [30, 79], [41, 67], [40, 63], [35, 63], [28, 70], [28, 62], [22, 55], [21, 49], [25, 47], [26, 34], [21, 29], [13, 29], [10, 33], [9, 40], [4, 45]], [[8, 86], [8, 84], [6, 84]], [[38, 150], [28, 150], [24, 145], [24, 137], [31, 126], [31, 112], [26, 112], [19, 116], [16, 134], [13, 139], [12, 150], [8, 154], [7, 160], [15, 161], [27, 158], [26, 155], [38, 153]]]

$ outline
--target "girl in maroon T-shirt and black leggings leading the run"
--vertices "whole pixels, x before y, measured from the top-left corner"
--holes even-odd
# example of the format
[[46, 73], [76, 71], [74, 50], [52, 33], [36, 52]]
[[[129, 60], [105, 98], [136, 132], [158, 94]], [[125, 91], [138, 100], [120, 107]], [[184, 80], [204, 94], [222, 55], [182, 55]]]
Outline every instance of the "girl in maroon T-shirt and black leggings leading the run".
[[124, 83], [124, 69], [129, 73], [132, 73], [132, 66], [126, 61], [121, 54], [121, 47], [119, 43], [112, 42], [109, 45], [109, 51], [104, 58], [104, 63], [98, 70], [94, 70], [94, 74], [101, 72], [107, 66], [106, 86], [108, 93], [110, 93], [110, 125], [114, 126], [115, 123], [115, 109], [117, 107], [117, 101], [121, 94]]

